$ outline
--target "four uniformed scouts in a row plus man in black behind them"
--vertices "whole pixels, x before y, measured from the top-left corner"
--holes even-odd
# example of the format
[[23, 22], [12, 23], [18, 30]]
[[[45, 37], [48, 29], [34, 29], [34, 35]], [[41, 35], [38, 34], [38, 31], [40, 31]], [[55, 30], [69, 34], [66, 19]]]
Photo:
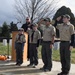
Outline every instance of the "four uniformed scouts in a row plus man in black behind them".
[[[61, 17], [57, 18], [59, 21]], [[45, 72], [52, 70], [52, 47], [55, 41], [56, 28], [59, 30], [60, 35], [60, 60], [62, 66], [62, 72], [57, 75], [68, 75], [70, 70], [70, 60], [71, 60], [71, 49], [74, 43], [74, 26], [70, 23], [70, 16], [68, 14], [63, 16], [61, 24], [51, 24], [50, 18], [42, 19], [43, 24], [33, 23], [31, 24], [30, 18], [26, 18], [26, 23], [22, 25], [20, 32], [16, 36], [15, 42], [16, 45], [16, 54], [17, 60], [16, 64], [20, 61], [20, 65], [23, 63], [23, 58], [20, 56], [20, 53], [23, 55], [23, 47], [25, 41], [24, 32], [28, 33], [28, 59], [30, 64], [27, 65], [35, 68], [38, 65], [38, 47], [42, 39], [42, 49], [41, 56], [44, 63], [43, 67], [40, 70]], [[23, 31], [23, 32], [22, 32]], [[19, 37], [19, 35], [21, 37]], [[22, 52], [20, 52], [22, 51]], [[20, 59], [19, 59], [20, 58]]]

